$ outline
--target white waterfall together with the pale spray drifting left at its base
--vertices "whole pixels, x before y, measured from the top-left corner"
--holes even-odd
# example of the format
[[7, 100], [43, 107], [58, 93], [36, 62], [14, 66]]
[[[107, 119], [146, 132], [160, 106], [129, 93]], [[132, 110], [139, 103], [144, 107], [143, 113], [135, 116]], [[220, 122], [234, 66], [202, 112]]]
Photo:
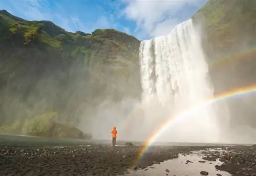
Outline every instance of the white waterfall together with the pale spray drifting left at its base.
[[[173, 38], [174, 35], [178, 38]], [[194, 44], [192, 48], [191, 43]], [[179, 47], [180, 51], [173, 51], [172, 55], [170, 51], [175, 47]], [[192, 59], [195, 59], [194, 63], [190, 61]], [[190, 20], [179, 24], [167, 36], [142, 41], [140, 81], [142, 92], [139, 100], [125, 98], [125, 94], [118, 103], [106, 99], [97, 107], [91, 120], [85, 115], [83, 119], [86, 122], [80, 123], [81, 129], [88, 123], [91, 125], [88, 130], [95, 139], [109, 139], [110, 130], [116, 126], [118, 139], [146, 141], [159, 133], [167, 120], [173, 119], [173, 124], [169, 124], [156, 142], [225, 141], [229, 111], [224, 102], [182, 115], [187, 109], [214, 95], [200, 44], [200, 32], [195, 32]], [[225, 119], [221, 119], [222, 116]]]

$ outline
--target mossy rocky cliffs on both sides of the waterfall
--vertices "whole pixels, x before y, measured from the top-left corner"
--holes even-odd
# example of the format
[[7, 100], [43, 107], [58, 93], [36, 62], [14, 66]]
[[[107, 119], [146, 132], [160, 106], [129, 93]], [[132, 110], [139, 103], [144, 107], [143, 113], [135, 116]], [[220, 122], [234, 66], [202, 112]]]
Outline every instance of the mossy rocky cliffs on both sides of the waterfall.
[[[209, 0], [193, 16], [216, 94], [256, 83], [255, 15], [254, 1]], [[113, 29], [70, 33], [0, 11], [1, 124], [55, 112], [77, 125], [106, 99], [139, 99], [139, 43]], [[231, 122], [256, 127], [255, 103], [254, 94], [227, 99]]]

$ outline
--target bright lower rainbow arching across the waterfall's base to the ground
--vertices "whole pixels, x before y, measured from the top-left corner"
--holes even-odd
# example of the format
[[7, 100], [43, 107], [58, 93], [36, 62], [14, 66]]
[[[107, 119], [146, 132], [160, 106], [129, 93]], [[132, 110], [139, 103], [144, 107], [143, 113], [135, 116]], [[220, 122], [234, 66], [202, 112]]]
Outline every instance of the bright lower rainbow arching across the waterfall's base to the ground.
[[233, 90], [230, 90], [230, 91], [227, 91], [224, 93], [220, 93], [214, 97], [206, 99], [205, 102], [203, 102], [197, 106], [188, 108], [185, 111], [182, 111], [181, 113], [175, 115], [174, 117], [169, 118], [167, 121], [165, 121], [160, 126], [160, 128], [158, 128], [158, 130], [156, 130], [155, 133], [153, 133], [153, 135], [148, 140], [146, 140], [146, 142], [143, 144], [142, 148], [139, 150], [137, 159], [139, 159], [143, 156], [143, 154], [146, 152], [147, 148], [157, 139], [157, 137], [160, 134], [162, 134], [170, 125], [172, 125], [176, 119], [180, 119], [190, 113], [197, 112], [198, 110], [208, 106], [209, 104], [219, 102], [220, 100], [224, 100], [226, 98], [230, 98], [230, 97], [234, 97], [234, 96], [244, 95], [244, 94], [251, 93], [251, 92], [256, 92], [256, 84], [247, 86], [247, 87], [238, 88], [238, 89], [233, 89]]

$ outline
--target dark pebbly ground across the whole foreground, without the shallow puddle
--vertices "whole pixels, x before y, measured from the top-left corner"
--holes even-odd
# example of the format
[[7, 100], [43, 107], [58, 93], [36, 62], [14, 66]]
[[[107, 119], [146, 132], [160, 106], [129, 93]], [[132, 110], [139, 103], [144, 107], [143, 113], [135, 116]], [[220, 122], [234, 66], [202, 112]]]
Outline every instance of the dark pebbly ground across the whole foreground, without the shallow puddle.
[[[187, 155], [209, 146], [151, 147], [138, 160], [140, 147], [81, 145], [67, 147], [19, 147], [0, 145], [0, 175], [120, 175], [164, 160]], [[233, 175], [256, 175], [256, 147], [236, 146], [226, 150], [204, 150], [204, 160], [219, 159], [217, 169]], [[207, 172], [207, 170], [206, 170]]]

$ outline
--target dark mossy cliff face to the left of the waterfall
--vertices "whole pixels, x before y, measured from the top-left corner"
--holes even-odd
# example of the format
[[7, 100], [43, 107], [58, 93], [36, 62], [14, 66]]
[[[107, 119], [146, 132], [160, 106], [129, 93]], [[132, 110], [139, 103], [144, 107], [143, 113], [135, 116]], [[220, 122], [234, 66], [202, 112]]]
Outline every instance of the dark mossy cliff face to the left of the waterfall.
[[1, 10], [1, 125], [52, 111], [78, 124], [105, 99], [139, 98], [139, 43], [113, 29], [70, 33]]

